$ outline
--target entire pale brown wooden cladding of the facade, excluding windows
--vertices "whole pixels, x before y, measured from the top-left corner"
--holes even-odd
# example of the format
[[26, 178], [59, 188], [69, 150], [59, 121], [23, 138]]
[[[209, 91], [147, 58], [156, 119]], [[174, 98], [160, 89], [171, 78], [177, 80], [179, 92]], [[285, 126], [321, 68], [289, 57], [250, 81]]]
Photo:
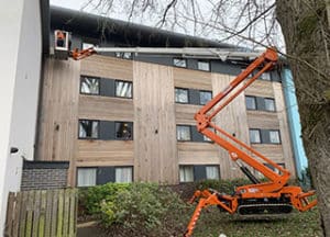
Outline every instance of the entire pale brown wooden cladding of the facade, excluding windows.
[[[133, 98], [79, 94], [80, 75], [132, 81]], [[47, 59], [44, 70], [37, 159], [76, 167], [134, 166], [134, 180], [177, 183], [179, 165], [220, 163], [222, 178], [238, 177], [228, 151], [210, 143], [178, 143], [176, 125], [195, 125], [202, 105], [175, 103], [175, 88], [212, 91], [232, 76], [94, 55], [81, 61]], [[107, 81], [106, 81], [107, 82]], [[254, 145], [294, 170], [282, 84], [255, 81], [219, 115], [216, 124], [249, 144], [249, 127], [279, 129], [283, 145]], [[246, 111], [245, 95], [274, 98], [276, 112]], [[78, 139], [78, 120], [134, 124], [133, 140]], [[274, 154], [276, 153], [276, 154]]]

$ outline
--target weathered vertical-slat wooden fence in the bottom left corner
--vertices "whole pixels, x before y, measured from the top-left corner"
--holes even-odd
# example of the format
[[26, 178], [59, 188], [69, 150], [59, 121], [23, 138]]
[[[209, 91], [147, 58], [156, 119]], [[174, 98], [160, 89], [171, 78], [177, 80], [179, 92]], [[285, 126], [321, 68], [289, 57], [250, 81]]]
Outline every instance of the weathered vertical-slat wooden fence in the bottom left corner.
[[76, 236], [77, 203], [75, 189], [10, 193], [4, 236]]

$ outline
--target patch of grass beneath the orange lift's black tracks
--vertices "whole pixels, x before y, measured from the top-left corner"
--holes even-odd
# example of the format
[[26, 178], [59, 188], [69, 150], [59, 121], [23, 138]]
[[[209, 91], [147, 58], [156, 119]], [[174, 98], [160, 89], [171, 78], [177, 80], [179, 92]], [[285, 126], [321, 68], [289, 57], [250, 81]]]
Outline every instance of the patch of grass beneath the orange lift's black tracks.
[[204, 210], [194, 232], [194, 237], [318, 237], [319, 214], [315, 208], [305, 213], [293, 212], [285, 217], [249, 219], [220, 213], [217, 207]]

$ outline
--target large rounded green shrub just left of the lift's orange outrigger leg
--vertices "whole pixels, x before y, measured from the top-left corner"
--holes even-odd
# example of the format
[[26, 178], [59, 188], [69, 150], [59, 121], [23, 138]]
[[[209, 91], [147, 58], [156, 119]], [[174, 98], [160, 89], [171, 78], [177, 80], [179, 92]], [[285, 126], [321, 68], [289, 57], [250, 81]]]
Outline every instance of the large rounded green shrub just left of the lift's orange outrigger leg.
[[[167, 188], [133, 183], [101, 203], [103, 225], [116, 236], [170, 236], [185, 229], [187, 205]], [[185, 218], [184, 218], [185, 219]], [[185, 219], [187, 221], [187, 219]]]

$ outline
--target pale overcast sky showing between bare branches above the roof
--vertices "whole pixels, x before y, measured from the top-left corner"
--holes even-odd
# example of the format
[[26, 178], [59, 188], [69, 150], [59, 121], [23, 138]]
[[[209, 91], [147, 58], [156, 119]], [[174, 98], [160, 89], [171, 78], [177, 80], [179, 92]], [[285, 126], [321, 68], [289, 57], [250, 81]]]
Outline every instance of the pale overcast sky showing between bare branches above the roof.
[[[80, 10], [81, 7], [85, 5], [89, 1], [88, 0], [51, 0], [51, 4], [63, 7], [63, 8]], [[107, 0], [105, 0], [105, 2]], [[244, 5], [244, 1], [246, 2], [249, 0], [224, 1], [230, 4], [228, 7], [229, 11], [224, 11], [226, 12], [224, 15], [222, 14], [222, 15], [218, 15], [218, 16], [224, 19], [224, 21], [227, 22], [226, 25], [230, 25], [231, 19], [232, 19], [232, 22], [238, 20], [238, 15], [240, 15], [240, 8], [242, 8], [242, 5]], [[274, 0], [258, 0], [258, 1], [264, 3], [262, 5], [264, 9], [266, 9], [268, 5], [271, 5], [274, 2]], [[94, 0], [91, 2], [97, 2], [97, 1]], [[113, 2], [116, 2], [117, 5], [109, 13], [110, 16], [113, 19], [120, 19], [120, 20], [127, 21], [131, 1], [113, 0]], [[157, 4], [157, 8], [160, 8], [160, 9], [153, 10], [150, 12], [146, 11], [144, 14], [143, 13], [141, 14], [140, 12], [138, 12], [138, 13], [135, 12], [135, 14], [132, 15], [130, 21], [138, 23], [138, 24], [145, 24], [148, 26], [160, 26], [160, 25], [157, 25], [157, 22], [160, 23], [162, 21], [164, 9], [166, 8], [166, 5], [168, 4], [169, 1], [168, 0], [158, 0], [155, 2]], [[256, 48], [256, 49], [263, 49], [262, 46], [258, 46], [257, 44], [255, 44], [251, 41], [244, 41], [238, 36], [232, 37], [231, 35], [233, 35], [233, 34], [223, 32], [223, 30], [219, 30], [219, 29], [217, 30], [213, 27], [207, 27], [202, 24], [196, 24], [196, 22], [191, 21], [191, 19], [194, 19], [194, 16], [190, 14], [191, 10], [190, 10], [190, 12], [189, 12], [189, 10], [187, 10], [187, 9], [189, 9], [190, 5], [189, 5], [189, 3], [186, 3], [186, 2], [189, 2], [189, 1], [178, 1], [177, 2], [177, 5], [179, 5], [179, 7], [177, 7], [177, 10], [176, 10], [178, 13], [178, 18], [176, 18], [175, 21], [177, 21], [177, 23], [175, 23], [175, 24], [173, 23], [173, 20], [170, 20], [172, 12], [168, 11], [167, 19], [169, 19], [169, 20], [167, 20], [167, 22], [163, 25], [162, 29], [178, 32], [178, 33], [206, 37], [206, 38], [213, 40], [213, 41], [220, 41], [221, 43], [229, 43], [229, 44], [235, 44], [239, 46], [244, 46], [244, 47], [250, 47], [250, 48], [252, 47], [252, 48]], [[199, 18], [199, 20], [202, 18], [206, 18], [206, 20], [204, 20], [204, 21], [207, 22], [207, 24], [208, 24], [213, 19], [217, 19], [217, 16], [212, 15], [213, 12], [211, 10], [215, 10], [215, 5], [212, 5], [212, 3], [210, 3], [210, 2], [217, 3], [217, 2], [219, 2], [218, 0], [213, 0], [213, 1], [202, 0], [202, 1], [197, 1], [197, 2], [199, 4], [198, 10], [199, 10], [199, 12], [201, 12], [201, 18]], [[237, 5], [234, 5], [234, 3], [232, 3], [232, 5], [231, 5], [231, 2], [235, 2]], [[91, 12], [98, 14], [98, 12], [96, 12], [96, 11], [91, 11]], [[272, 12], [270, 12], [270, 15], [272, 15], [271, 13]], [[107, 16], [109, 16], [109, 14], [107, 14]], [[186, 16], [187, 18], [189, 16], [190, 21], [185, 19]], [[272, 18], [272, 16], [270, 16], [270, 18]], [[172, 19], [173, 19], [173, 14], [172, 14]], [[250, 20], [251, 20], [251, 18], [250, 18]], [[202, 21], [202, 20], [200, 20], [200, 21]], [[234, 31], [239, 31], [240, 29], [243, 29], [248, 24], [248, 22], [249, 21], [241, 21], [240, 24], [238, 24], [233, 27]], [[218, 22], [213, 23], [213, 24], [216, 26], [221, 25]], [[222, 27], [222, 26], [220, 26], [220, 27]], [[272, 34], [270, 34], [267, 37], [264, 37], [266, 35], [265, 29], [267, 29], [267, 27], [270, 27], [270, 26], [267, 26], [265, 21], [261, 21], [258, 23], [258, 25], [256, 27], [254, 27], [253, 31], [250, 31], [250, 32], [245, 31], [241, 35], [243, 35], [245, 37], [254, 37], [254, 38], [256, 38], [257, 42], [264, 41], [263, 43], [266, 45], [275, 45], [275, 46], [277, 46], [277, 48], [285, 50], [284, 43], [283, 43], [284, 42], [283, 36], [280, 33], [280, 30], [278, 30], [278, 25], [275, 26], [275, 30], [272, 32]], [[253, 35], [253, 36], [251, 36], [251, 35]], [[265, 38], [271, 38], [271, 40], [266, 41]]]

